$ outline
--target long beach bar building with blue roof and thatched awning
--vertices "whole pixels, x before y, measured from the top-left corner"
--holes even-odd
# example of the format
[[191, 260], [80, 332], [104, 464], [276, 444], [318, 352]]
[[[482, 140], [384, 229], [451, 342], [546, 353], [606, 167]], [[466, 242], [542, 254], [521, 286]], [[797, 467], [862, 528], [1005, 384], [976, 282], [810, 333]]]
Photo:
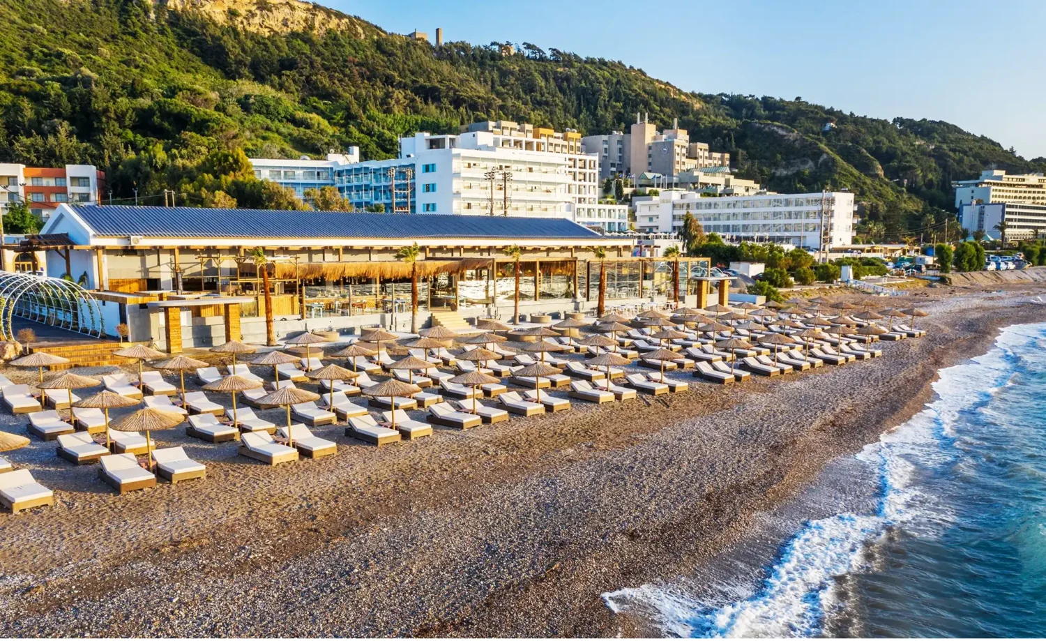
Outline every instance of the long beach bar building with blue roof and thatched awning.
[[[416, 262], [397, 258], [415, 243]], [[39, 238], [4, 249], [41, 253], [43, 276], [79, 283], [100, 304], [101, 335], [116, 336], [126, 324], [131, 341], [175, 352], [230, 339], [265, 341], [258, 252], [283, 338], [305, 329], [409, 329], [414, 270], [419, 326], [507, 321], [513, 246], [521, 250], [525, 317], [594, 310], [600, 270], [608, 308], [675, 299], [675, 260], [633, 256], [633, 239], [563, 219], [62, 205]], [[713, 302], [708, 259], [678, 265], [680, 302]]]

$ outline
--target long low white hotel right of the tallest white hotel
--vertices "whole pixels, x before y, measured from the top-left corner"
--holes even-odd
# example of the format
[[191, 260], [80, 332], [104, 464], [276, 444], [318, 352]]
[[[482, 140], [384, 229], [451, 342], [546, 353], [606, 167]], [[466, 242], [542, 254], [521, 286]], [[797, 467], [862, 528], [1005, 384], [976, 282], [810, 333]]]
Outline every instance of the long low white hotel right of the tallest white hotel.
[[727, 242], [777, 243], [820, 251], [854, 241], [854, 194], [848, 191], [702, 198], [682, 189], [633, 198], [636, 230], [677, 233], [687, 213]]

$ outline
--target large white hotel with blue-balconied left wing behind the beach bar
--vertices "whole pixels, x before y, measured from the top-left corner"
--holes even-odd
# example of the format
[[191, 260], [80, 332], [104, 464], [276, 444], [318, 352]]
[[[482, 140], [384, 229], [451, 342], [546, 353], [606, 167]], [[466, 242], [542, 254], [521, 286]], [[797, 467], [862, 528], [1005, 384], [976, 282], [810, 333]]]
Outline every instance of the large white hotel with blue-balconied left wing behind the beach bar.
[[[404, 213], [568, 219], [627, 231], [628, 207], [599, 199], [599, 161], [576, 132], [477, 122], [458, 135], [400, 139], [400, 157], [360, 161], [359, 150], [327, 160], [252, 159], [255, 176], [305, 189], [335, 186], [357, 209]], [[493, 180], [490, 176], [493, 173]], [[507, 174], [507, 178], [506, 178]]]

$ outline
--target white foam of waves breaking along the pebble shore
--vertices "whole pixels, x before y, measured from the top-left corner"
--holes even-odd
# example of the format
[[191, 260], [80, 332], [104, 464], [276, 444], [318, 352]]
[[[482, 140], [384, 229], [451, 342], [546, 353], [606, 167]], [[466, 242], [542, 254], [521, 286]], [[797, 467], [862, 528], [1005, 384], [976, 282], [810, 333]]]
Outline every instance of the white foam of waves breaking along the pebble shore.
[[[806, 637], [818, 634], [824, 617], [843, 606], [836, 577], [865, 570], [862, 550], [887, 526], [933, 535], [952, 514], [916, 482], [925, 468], [955, 460], [942, 447], [954, 437], [960, 414], [983, 404], [1016, 371], [1016, 353], [1041, 342], [1041, 328], [1007, 329], [996, 347], [972, 362], [940, 371], [935, 400], [900, 428], [866, 447], [858, 458], [880, 470], [882, 498], [874, 514], [844, 513], [808, 523], [787, 545], [761, 586], [735, 586], [717, 601], [688, 596], [680, 586], [641, 586], [602, 595], [613, 612], [650, 618], [670, 636]], [[724, 602], [725, 601], [725, 602]]]

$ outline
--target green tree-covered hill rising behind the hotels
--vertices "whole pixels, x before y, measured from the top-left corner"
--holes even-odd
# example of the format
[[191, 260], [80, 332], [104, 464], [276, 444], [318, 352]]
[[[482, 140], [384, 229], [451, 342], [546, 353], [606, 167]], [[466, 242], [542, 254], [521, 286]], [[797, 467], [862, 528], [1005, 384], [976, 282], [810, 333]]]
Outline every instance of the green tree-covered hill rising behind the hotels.
[[527, 43], [433, 47], [296, 0], [170, 2], [0, 3], [0, 159], [95, 163], [116, 199], [176, 188], [195, 204], [250, 180], [226, 162], [238, 153], [217, 152], [296, 157], [355, 144], [387, 158], [417, 130], [506, 118], [591, 134], [645, 112], [661, 127], [678, 118], [771, 189], [856, 191], [891, 237], [942, 223], [952, 180], [1046, 168], [947, 122], [690, 93], [620, 62]]

